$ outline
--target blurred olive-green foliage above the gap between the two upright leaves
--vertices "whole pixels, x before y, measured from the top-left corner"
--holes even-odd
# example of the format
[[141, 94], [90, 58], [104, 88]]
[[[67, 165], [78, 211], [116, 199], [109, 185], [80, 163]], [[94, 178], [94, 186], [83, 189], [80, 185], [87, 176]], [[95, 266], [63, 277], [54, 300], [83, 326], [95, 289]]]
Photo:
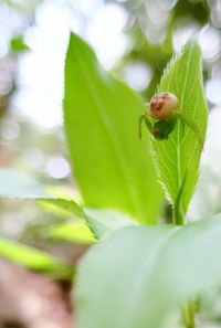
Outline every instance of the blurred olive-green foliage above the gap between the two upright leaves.
[[[107, 2], [112, 1], [107, 0]], [[211, 9], [204, 0], [165, 1], [165, 10], [164, 1], [129, 0], [123, 3], [122, 1], [115, 2], [120, 3], [128, 12], [126, 33], [133, 40], [130, 52], [122, 60], [118, 68], [119, 74], [123, 73], [125, 65], [131, 62], [141, 62], [151, 67], [151, 80], [143, 91], [145, 97], [150, 97], [156, 91], [164, 68], [173, 54], [173, 35], [176, 30], [188, 28], [192, 23], [198, 24], [198, 30], [200, 30], [200, 28], [210, 23]], [[169, 6], [170, 2], [171, 6]], [[170, 7], [172, 8], [170, 9]], [[156, 14], [157, 10], [159, 12]], [[154, 18], [151, 12], [155, 14]], [[164, 21], [160, 22], [161, 18], [164, 18]], [[152, 31], [155, 35], [154, 42], [149, 40], [148, 30]]]

